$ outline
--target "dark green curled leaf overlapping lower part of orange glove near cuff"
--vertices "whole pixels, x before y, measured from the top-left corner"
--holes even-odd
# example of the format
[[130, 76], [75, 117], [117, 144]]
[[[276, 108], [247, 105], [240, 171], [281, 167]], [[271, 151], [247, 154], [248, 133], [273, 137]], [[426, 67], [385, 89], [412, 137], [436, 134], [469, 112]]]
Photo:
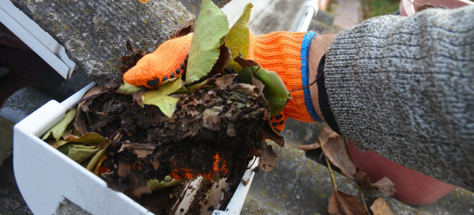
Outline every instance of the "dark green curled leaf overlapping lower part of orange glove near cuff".
[[268, 71], [258, 66], [249, 66], [242, 69], [238, 74], [240, 80], [247, 84], [252, 84], [250, 69], [254, 71], [254, 77], [265, 85], [264, 96], [270, 104], [270, 115], [278, 114], [278, 112], [285, 108], [288, 99], [291, 98], [282, 79], [273, 71]]

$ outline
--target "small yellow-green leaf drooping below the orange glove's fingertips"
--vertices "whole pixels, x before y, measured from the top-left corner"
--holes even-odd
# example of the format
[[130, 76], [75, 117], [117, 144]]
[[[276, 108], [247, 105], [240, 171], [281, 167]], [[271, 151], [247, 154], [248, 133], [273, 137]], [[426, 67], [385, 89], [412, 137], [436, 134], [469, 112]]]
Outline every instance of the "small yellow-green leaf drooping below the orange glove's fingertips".
[[167, 117], [173, 116], [179, 99], [169, 96], [169, 94], [178, 91], [181, 87], [181, 78], [162, 84], [157, 90], [149, 91], [142, 95], [142, 107], [145, 104], [155, 105]]

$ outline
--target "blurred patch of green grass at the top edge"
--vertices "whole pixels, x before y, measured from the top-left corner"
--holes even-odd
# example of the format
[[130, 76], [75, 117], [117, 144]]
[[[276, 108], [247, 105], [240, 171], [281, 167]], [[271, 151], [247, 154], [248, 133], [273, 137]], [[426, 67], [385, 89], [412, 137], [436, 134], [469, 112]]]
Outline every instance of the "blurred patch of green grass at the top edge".
[[363, 19], [397, 12], [399, 0], [362, 0]]

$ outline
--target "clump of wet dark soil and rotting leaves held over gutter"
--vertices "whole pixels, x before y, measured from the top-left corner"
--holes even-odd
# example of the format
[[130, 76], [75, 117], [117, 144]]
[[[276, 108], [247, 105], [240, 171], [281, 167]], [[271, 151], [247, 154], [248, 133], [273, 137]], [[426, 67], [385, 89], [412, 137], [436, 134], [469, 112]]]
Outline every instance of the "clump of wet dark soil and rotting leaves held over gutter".
[[[128, 48], [133, 53], [121, 58], [122, 72], [144, 56], [129, 43]], [[142, 95], [149, 89], [127, 94], [117, 91], [120, 84], [107, 84], [106, 90], [96, 86], [84, 95], [74, 126], [108, 138], [100, 169], [108, 170], [104, 175], [109, 187], [130, 196], [151, 193], [146, 181], [166, 176], [232, 181], [254, 156], [266, 155], [263, 165], [273, 168], [278, 158], [265, 138], [283, 141], [270, 123], [264, 84], [253, 76], [252, 83], [228, 74], [206, 87], [172, 94], [179, 101], [171, 117], [155, 105], [142, 107]]]

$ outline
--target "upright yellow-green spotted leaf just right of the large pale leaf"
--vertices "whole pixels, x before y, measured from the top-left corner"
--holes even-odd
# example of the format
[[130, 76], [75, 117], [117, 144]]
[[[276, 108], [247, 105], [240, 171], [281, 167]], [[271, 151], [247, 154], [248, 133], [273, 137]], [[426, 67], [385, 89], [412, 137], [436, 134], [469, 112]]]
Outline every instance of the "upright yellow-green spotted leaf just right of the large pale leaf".
[[226, 46], [230, 48], [230, 52], [232, 53], [232, 60], [229, 65], [234, 68], [236, 73], [242, 70], [242, 66], [233, 60], [234, 57], [238, 56], [240, 53], [242, 54], [242, 57], [247, 58], [248, 46], [250, 44], [248, 20], [250, 19], [250, 11], [253, 7], [252, 3], [248, 3], [240, 15], [240, 18], [227, 33]]

